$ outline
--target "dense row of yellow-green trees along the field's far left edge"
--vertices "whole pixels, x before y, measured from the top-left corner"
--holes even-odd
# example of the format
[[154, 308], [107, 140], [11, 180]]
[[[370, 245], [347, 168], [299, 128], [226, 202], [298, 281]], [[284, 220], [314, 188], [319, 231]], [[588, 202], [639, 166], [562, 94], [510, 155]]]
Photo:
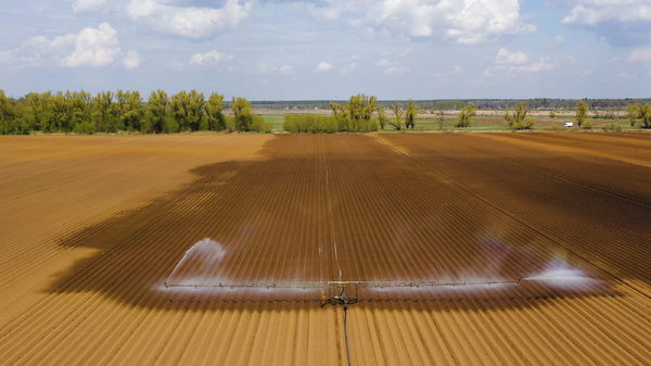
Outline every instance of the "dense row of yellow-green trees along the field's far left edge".
[[0, 89], [0, 134], [271, 130], [270, 124], [252, 113], [245, 98], [232, 98], [228, 105], [232, 116], [224, 114], [224, 94], [213, 92], [206, 100], [196, 90], [171, 96], [156, 90], [144, 102], [140, 92], [130, 90], [102, 91], [94, 97], [84, 90], [47, 91], [13, 99]]

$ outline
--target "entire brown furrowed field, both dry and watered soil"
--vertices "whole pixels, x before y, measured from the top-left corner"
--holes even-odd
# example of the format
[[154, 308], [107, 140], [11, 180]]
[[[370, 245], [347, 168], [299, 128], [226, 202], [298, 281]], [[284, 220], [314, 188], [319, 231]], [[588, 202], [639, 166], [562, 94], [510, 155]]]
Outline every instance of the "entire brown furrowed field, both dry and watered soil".
[[[0, 137], [0, 365], [346, 365], [346, 332], [353, 365], [651, 364], [651, 134]], [[326, 281], [430, 286], [359, 289], [345, 327], [320, 289], [202, 287]]]

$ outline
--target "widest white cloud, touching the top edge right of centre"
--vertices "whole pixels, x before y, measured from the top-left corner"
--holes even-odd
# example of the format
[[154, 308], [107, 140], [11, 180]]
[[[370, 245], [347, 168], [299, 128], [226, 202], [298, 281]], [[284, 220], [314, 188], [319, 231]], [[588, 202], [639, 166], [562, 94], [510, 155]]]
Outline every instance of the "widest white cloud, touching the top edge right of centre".
[[[312, 17], [333, 21], [345, 13], [366, 15], [371, 31], [388, 30], [413, 38], [447, 38], [476, 45], [503, 35], [535, 31], [520, 18], [522, 0], [328, 0], [312, 5]], [[356, 27], [361, 23], [356, 20]]]

